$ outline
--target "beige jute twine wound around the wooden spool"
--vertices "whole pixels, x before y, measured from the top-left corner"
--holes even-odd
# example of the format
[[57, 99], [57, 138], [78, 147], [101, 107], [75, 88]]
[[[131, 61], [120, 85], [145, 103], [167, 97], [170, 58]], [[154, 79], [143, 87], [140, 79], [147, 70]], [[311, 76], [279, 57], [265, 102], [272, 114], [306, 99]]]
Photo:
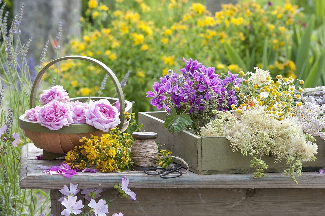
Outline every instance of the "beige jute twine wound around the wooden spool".
[[158, 147], [153, 139], [134, 140], [131, 147], [132, 160], [140, 167], [151, 167], [157, 159]]

